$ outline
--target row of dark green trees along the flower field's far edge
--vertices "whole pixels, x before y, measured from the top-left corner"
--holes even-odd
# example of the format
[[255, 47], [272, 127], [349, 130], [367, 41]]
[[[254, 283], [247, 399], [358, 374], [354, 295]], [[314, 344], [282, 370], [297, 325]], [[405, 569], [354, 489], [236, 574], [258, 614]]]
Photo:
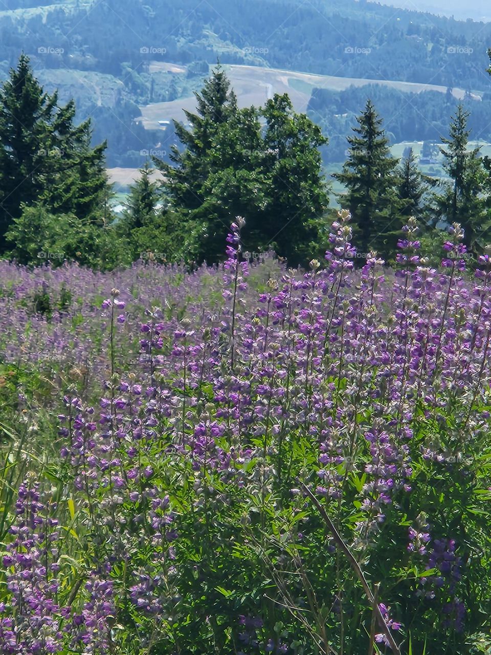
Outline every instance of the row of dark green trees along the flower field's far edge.
[[[105, 142], [93, 146], [90, 121], [76, 124], [75, 103], [60, 105], [22, 55], [0, 90], [0, 253], [24, 264], [65, 259], [101, 269], [137, 259], [216, 263], [230, 222], [246, 219], [244, 251], [272, 249], [293, 265], [325, 251], [335, 209], [319, 149], [321, 129], [276, 94], [261, 108], [238, 107], [225, 71], [196, 93], [187, 129], [170, 162], [141, 170], [122, 216], [113, 214]], [[425, 226], [423, 252], [439, 256], [445, 225], [458, 222], [474, 253], [491, 242], [491, 161], [469, 149], [469, 114], [458, 105], [441, 152], [447, 178], [424, 176], [414, 154], [391, 156], [382, 119], [367, 101], [333, 177], [338, 202], [354, 219], [360, 259], [395, 261], [410, 215]], [[156, 176], [156, 173], [158, 175]]]

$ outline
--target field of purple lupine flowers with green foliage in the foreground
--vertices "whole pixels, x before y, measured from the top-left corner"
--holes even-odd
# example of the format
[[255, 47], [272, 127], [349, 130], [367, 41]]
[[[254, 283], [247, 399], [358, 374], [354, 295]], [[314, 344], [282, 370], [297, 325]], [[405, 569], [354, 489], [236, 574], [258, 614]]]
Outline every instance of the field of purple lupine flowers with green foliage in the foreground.
[[0, 263], [0, 653], [491, 652], [491, 259]]

